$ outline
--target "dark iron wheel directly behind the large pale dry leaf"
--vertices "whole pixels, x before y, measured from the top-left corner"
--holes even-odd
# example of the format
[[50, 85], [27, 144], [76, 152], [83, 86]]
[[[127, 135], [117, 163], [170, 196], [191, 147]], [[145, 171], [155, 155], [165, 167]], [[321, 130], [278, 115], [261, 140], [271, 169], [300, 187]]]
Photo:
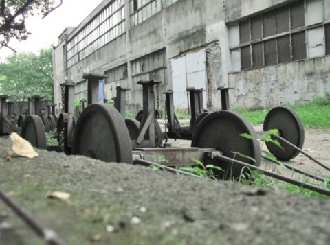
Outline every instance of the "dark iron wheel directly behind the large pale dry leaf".
[[26, 117], [22, 126], [21, 137], [36, 148], [46, 149], [46, 132], [41, 117], [38, 115]]

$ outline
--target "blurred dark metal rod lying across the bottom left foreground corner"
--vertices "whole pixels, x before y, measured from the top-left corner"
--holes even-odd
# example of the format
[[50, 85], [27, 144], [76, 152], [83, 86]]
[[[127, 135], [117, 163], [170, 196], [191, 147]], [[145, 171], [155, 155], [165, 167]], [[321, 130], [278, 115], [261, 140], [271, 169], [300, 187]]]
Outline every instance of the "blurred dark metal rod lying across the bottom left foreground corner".
[[26, 224], [28, 224], [32, 230], [42, 237], [47, 244], [50, 245], [64, 245], [64, 243], [58, 238], [56, 233], [46, 227], [41, 226], [37, 220], [35, 220], [30, 213], [23, 210], [19, 205], [17, 205], [14, 200], [12, 200], [5, 192], [0, 189], [0, 198], [5, 202], [8, 207], [10, 207]]

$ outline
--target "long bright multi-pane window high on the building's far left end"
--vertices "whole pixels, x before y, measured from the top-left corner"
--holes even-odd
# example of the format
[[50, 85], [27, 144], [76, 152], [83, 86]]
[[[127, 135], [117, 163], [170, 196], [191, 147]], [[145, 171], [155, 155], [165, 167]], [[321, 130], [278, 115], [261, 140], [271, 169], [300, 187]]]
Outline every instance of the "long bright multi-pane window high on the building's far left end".
[[96, 18], [67, 43], [67, 65], [71, 67], [126, 32], [124, 0], [104, 8]]

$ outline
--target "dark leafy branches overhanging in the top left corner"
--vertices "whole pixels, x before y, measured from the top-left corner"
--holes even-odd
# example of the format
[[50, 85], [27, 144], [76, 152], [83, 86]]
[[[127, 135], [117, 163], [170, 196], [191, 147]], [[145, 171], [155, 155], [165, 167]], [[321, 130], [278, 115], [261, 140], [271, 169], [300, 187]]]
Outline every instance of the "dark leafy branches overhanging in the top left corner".
[[[56, 0], [0, 0], [0, 49], [8, 47], [10, 38], [26, 40], [30, 32], [25, 28], [28, 16], [42, 14], [47, 16], [54, 7]], [[10, 48], [10, 47], [8, 47]]]

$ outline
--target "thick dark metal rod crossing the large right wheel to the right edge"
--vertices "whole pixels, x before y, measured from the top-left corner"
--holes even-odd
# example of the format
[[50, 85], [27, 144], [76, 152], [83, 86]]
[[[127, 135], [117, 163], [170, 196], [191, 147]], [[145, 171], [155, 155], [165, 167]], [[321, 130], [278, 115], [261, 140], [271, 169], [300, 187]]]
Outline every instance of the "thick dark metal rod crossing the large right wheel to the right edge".
[[287, 178], [281, 174], [276, 174], [274, 172], [271, 172], [271, 171], [268, 171], [268, 170], [263, 170], [261, 167], [256, 167], [254, 165], [250, 165], [248, 163], [244, 163], [242, 161], [238, 161], [238, 160], [235, 160], [235, 159], [231, 159], [227, 156], [215, 156], [214, 159], [217, 159], [219, 161], [227, 161], [229, 163], [233, 162], [233, 163], [237, 163], [243, 167], [248, 167], [250, 170], [260, 170], [263, 172], [263, 174], [267, 175], [267, 176], [270, 176], [272, 178], [277, 178], [278, 180], [283, 180], [287, 183], [290, 183], [292, 185], [296, 185], [298, 187], [303, 187], [305, 189], [309, 189], [311, 191], [316, 191], [318, 192], [319, 194], [324, 194], [326, 196], [330, 196], [330, 190], [329, 189], [325, 189], [325, 188], [322, 188], [322, 187], [318, 187], [316, 185], [311, 185], [311, 184], [308, 184], [308, 183], [303, 183], [299, 180], [294, 180], [293, 178]]

